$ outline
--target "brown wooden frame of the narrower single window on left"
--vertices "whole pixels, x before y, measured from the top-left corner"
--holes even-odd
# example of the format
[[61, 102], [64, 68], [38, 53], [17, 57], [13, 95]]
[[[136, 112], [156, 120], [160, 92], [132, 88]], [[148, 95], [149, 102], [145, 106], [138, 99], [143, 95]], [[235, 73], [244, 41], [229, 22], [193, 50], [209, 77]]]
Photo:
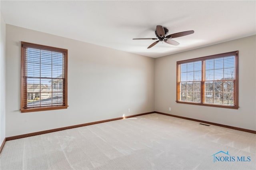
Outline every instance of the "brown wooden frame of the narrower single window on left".
[[[27, 81], [26, 81], [26, 48], [34, 48], [40, 50], [47, 50], [53, 52], [59, 52], [64, 54], [64, 81], [63, 81], [63, 105], [58, 106], [40, 106], [34, 108], [27, 108]], [[36, 112], [36, 111], [49, 111], [56, 109], [67, 109], [68, 108], [68, 49], [62, 49], [57, 47], [50, 47], [46, 45], [39, 45], [35, 43], [21, 42], [21, 104], [20, 112]]]

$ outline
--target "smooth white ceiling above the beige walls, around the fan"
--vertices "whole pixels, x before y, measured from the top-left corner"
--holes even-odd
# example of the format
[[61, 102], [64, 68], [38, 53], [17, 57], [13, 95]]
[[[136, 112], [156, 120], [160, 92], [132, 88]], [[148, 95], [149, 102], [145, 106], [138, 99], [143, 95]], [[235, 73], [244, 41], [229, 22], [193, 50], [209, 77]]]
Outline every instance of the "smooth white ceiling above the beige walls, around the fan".
[[[256, 34], [256, 1], [0, 1], [6, 24], [148, 57], [162, 57]], [[157, 25], [178, 46], [158, 43]]]

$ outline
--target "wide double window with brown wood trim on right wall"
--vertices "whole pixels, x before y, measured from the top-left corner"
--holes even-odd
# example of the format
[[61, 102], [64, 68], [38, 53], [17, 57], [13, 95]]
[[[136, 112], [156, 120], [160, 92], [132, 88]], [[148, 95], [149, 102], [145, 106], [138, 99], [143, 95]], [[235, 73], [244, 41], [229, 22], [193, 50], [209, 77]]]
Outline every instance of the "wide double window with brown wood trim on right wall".
[[238, 109], [238, 51], [177, 61], [176, 102]]

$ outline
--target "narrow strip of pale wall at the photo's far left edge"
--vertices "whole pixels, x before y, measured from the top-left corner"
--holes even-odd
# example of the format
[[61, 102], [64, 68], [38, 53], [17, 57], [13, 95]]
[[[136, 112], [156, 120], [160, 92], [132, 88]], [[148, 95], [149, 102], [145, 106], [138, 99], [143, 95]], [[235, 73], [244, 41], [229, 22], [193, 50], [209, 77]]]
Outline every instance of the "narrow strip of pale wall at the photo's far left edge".
[[0, 146], [5, 138], [5, 22], [0, 13]]

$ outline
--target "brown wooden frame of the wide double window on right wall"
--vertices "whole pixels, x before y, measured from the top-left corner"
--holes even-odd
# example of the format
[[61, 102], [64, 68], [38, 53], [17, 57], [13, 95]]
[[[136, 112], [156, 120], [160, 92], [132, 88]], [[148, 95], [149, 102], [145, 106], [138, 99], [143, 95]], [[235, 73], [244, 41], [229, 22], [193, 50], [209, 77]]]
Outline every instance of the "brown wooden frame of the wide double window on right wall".
[[[214, 104], [214, 103], [204, 103], [204, 94], [205, 94], [205, 61], [207, 59], [216, 59], [221, 57], [235, 56], [234, 58], [234, 105], [224, 105], [224, 104]], [[202, 79], [201, 79], [201, 102], [192, 102], [192, 101], [181, 101], [180, 100], [180, 65], [184, 63], [202, 61]], [[221, 107], [228, 109], [238, 109], [238, 51], [232, 51], [228, 53], [221, 53], [216, 55], [209, 55], [206, 57], [199, 57], [194, 59], [187, 59], [183, 61], [177, 61], [176, 67], [176, 103], [190, 104], [190, 105], [202, 105], [210, 107]], [[193, 81], [194, 82], [194, 81]]]

